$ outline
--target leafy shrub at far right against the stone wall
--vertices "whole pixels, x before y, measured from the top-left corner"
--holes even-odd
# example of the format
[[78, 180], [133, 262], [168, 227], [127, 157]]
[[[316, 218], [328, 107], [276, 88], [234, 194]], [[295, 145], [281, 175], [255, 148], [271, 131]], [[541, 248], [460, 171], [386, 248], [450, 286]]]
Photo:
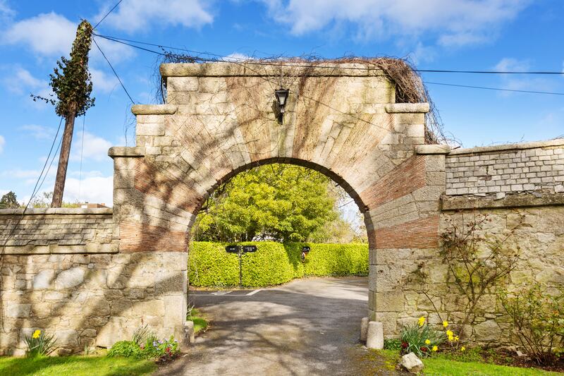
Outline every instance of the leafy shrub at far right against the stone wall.
[[527, 354], [537, 363], [553, 363], [556, 349], [564, 346], [564, 293], [547, 295], [535, 283], [515, 296], [503, 290], [499, 297]]

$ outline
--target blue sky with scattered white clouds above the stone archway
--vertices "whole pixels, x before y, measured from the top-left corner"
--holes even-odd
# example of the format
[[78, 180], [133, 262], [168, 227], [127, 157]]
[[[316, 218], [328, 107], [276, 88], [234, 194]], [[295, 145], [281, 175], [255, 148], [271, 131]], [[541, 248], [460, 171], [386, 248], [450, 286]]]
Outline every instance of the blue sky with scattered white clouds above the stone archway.
[[[29, 198], [59, 124], [30, 93], [49, 92], [49, 73], [68, 54], [80, 19], [94, 24], [115, 3], [0, 0], [0, 193]], [[561, 0], [123, 0], [97, 32], [221, 55], [390, 55], [410, 56], [422, 69], [564, 71], [563, 17]], [[152, 102], [155, 56], [98, 42], [133, 99]], [[134, 119], [97, 51], [90, 68], [96, 106], [84, 138], [83, 119], [75, 124], [65, 200], [109, 204], [106, 152], [132, 145]], [[424, 80], [564, 92], [564, 75], [426, 73]], [[465, 147], [564, 135], [564, 96], [438, 85], [429, 92], [446, 131]], [[56, 160], [42, 190], [52, 190], [55, 170]]]

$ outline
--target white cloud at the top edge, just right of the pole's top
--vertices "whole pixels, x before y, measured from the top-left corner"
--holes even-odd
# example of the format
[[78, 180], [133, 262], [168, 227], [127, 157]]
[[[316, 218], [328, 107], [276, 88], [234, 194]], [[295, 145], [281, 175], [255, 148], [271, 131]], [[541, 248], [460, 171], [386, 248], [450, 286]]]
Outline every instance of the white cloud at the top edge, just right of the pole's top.
[[[96, 19], [102, 18], [113, 5], [113, 1], [108, 2]], [[154, 0], [125, 0], [100, 28], [110, 26], [126, 32], [147, 30], [151, 24], [200, 28], [214, 20], [208, 8], [209, 4], [201, 0], [168, 0], [166, 4]]]

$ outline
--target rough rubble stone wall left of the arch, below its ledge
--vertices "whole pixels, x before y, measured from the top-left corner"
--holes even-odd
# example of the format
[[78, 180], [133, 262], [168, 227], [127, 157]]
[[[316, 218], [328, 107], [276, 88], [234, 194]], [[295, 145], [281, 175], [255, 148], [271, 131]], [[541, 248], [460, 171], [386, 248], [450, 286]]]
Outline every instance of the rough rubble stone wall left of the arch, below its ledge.
[[60, 353], [109, 347], [144, 324], [181, 340], [187, 265], [186, 253], [5, 255], [0, 351], [22, 354], [35, 329], [55, 334]]

